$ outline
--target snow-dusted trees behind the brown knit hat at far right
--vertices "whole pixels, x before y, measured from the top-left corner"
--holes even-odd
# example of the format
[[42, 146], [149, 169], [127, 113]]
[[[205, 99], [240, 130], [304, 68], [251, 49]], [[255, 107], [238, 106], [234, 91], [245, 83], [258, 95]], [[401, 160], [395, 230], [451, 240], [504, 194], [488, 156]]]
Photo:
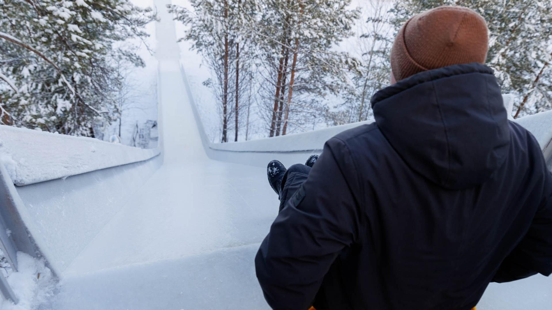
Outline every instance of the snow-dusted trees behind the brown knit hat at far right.
[[469, 7], [489, 25], [487, 65], [503, 92], [516, 95], [514, 117], [552, 108], [552, 2], [548, 0], [398, 0], [398, 27], [413, 14], [442, 5]]

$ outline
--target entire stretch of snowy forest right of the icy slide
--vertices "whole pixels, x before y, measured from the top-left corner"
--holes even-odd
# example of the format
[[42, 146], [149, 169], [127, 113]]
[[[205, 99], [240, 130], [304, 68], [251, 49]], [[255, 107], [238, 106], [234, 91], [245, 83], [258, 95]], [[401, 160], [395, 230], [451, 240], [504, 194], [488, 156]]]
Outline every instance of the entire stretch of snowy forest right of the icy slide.
[[[169, 6], [210, 68], [220, 141], [368, 120], [389, 53], [413, 14], [470, 7], [489, 23], [491, 66], [514, 116], [552, 106], [552, 3], [534, 0], [190, 0]], [[358, 6], [358, 7], [357, 7]]]

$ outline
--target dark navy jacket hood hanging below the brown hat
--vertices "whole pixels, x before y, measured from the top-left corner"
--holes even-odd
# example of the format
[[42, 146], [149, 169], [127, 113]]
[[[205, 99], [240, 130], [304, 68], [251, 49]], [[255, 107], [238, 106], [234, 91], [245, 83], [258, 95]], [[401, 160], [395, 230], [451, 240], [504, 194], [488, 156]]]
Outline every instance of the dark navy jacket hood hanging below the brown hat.
[[468, 63], [417, 73], [371, 99], [376, 124], [416, 172], [448, 189], [484, 183], [510, 132], [491, 68]]

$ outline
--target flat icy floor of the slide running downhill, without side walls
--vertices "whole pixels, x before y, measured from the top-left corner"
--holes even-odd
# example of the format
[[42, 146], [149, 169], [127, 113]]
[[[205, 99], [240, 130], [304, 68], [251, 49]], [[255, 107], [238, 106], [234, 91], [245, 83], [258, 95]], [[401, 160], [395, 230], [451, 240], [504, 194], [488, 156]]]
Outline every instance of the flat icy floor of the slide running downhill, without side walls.
[[264, 186], [264, 168], [206, 155], [179, 59], [167, 52], [178, 48], [163, 12], [163, 165], [61, 272], [60, 292], [44, 308], [269, 309], [253, 258], [278, 213], [277, 196]]

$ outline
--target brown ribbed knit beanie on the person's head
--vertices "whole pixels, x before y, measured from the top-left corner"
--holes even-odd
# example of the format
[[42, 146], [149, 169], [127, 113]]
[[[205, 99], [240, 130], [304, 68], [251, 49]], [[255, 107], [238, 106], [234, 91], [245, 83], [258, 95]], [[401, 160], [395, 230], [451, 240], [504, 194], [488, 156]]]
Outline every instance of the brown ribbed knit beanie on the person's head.
[[469, 8], [443, 6], [415, 15], [391, 49], [395, 80], [458, 63], [485, 63], [487, 32], [485, 19]]

